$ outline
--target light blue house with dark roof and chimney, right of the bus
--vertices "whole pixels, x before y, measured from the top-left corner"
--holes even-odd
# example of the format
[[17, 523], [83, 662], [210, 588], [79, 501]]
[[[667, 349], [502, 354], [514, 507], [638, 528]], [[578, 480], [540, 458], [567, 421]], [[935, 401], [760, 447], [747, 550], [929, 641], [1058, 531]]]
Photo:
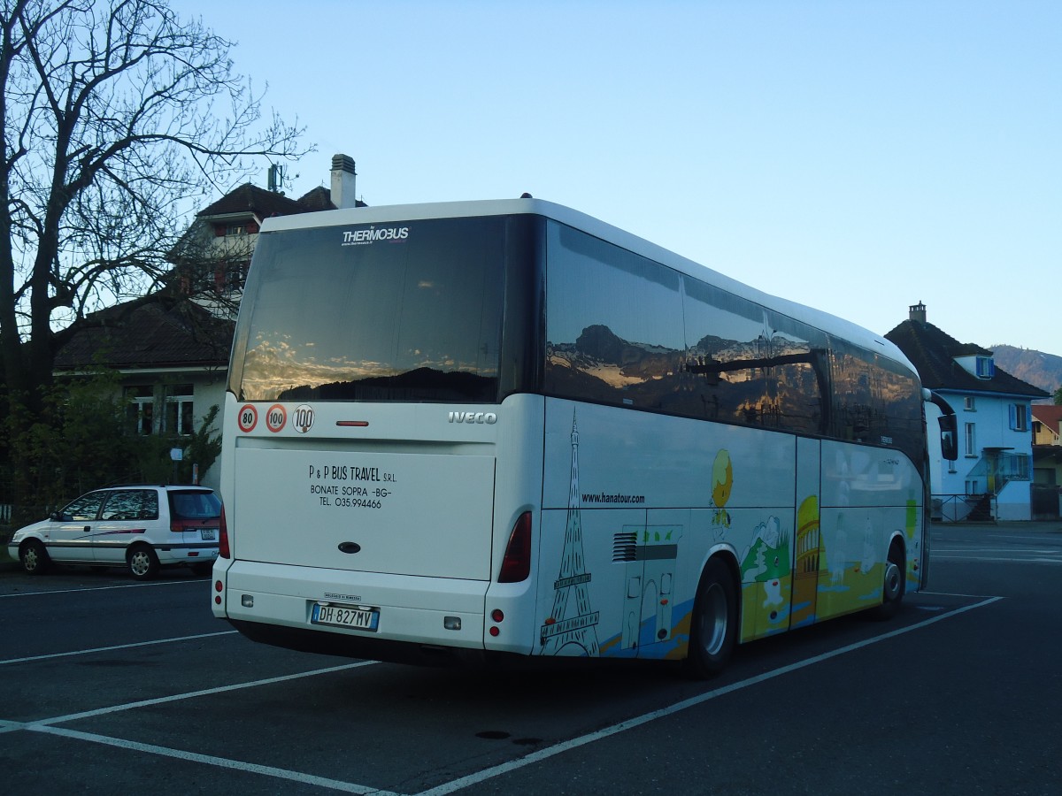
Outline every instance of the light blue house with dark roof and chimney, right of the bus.
[[921, 301], [885, 336], [958, 415], [959, 458], [930, 462], [935, 515], [1031, 519], [1032, 401], [1048, 394], [996, 367], [991, 350], [928, 323]]

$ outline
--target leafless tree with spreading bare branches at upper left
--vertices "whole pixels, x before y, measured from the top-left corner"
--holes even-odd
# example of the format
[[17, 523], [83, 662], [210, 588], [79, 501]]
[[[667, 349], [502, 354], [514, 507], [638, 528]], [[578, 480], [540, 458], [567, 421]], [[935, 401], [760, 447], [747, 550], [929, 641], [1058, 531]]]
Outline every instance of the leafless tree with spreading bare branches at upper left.
[[57, 322], [164, 284], [196, 197], [312, 148], [165, 0], [0, 0], [0, 349], [32, 395]]

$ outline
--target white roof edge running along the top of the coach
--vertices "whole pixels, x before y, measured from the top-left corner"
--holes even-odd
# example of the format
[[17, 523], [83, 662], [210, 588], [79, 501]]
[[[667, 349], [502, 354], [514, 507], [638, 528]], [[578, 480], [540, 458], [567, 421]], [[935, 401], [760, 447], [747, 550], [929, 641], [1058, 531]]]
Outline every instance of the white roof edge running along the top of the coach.
[[338, 210], [322, 210], [295, 215], [280, 215], [262, 222], [262, 233], [286, 229], [310, 229], [327, 226], [350, 226], [383, 224], [394, 221], [418, 221], [426, 219], [463, 219], [483, 215], [533, 214], [553, 219], [562, 224], [581, 229], [601, 240], [647, 257], [674, 269], [696, 279], [709, 282], [730, 293], [748, 298], [764, 307], [781, 312], [796, 321], [818, 328], [827, 334], [845, 340], [871, 352], [894, 360], [911, 373], [914, 366], [893, 343], [880, 334], [866, 329], [844, 318], [821, 310], [773, 296], [737, 279], [720, 274], [706, 265], [689, 260], [655, 243], [639, 238], [632, 232], [607, 224], [592, 215], [569, 207], [532, 197], [513, 200], [477, 200], [462, 202], [436, 202], [411, 205], [381, 205], [378, 207], [349, 207]]

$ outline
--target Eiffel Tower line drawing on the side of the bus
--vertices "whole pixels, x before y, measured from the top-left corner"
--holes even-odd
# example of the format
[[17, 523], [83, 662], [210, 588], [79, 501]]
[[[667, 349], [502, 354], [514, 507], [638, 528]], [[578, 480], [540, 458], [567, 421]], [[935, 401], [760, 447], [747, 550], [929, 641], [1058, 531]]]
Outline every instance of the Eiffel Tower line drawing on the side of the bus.
[[[590, 610], [590, 594], [583, 557], [583, 526], [579, 514], [579, 430], [571, 414], [571, 487], [568, 492], [568, 520], [564, 529], [564, 553], [561, 574], [553, 582], [553, 611], [539, 630], [542, 655], [558, 655], [569, 645], [582, 647], [582, 655], [600, 654], [597, 640], [598, 611]], [[565, 655], [576, 654], [568, 648]]]

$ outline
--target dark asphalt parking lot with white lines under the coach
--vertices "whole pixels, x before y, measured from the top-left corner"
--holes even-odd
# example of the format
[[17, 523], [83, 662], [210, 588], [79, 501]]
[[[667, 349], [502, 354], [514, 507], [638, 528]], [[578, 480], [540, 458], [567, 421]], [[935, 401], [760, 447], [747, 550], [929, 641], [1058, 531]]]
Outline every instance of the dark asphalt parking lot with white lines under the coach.
[[1062, 793], [1062, 523], [933, 537], [931, 588], [896, 621], [750, 644], [706, 683], [303, 655], [213, 619], [187, 571], [8, 566], [0, 771], [28, 796]]

